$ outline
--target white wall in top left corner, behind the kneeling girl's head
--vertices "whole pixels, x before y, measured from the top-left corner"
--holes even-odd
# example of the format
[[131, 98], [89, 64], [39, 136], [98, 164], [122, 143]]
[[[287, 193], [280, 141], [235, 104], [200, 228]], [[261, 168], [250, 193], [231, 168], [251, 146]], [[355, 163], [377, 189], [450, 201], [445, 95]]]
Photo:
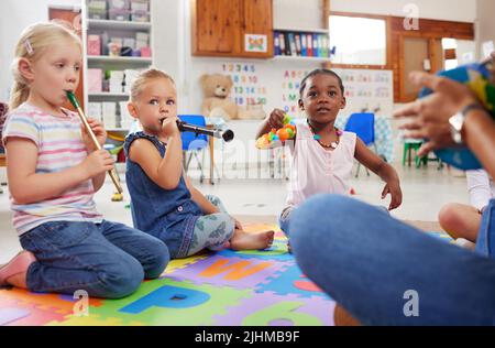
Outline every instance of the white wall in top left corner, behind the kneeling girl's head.
[[29, 25], [48, 20], [48, 7], [80, 8], [81, 0], [2, 0], [0, 2], [0, 99], [8, 100], [12, 85], [10, 64], [21, 32]]

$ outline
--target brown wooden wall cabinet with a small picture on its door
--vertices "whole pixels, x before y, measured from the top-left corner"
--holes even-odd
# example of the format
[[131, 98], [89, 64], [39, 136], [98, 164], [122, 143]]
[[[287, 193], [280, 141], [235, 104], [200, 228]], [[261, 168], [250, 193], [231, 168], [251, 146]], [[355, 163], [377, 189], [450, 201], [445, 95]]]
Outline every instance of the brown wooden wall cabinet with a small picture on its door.
[[[191, 0], [191, 12], [194, 55], [273, 57], [272, 0]], [[260, 35], [251, 37], [266, 51], [249, 52], [246, 35]]]

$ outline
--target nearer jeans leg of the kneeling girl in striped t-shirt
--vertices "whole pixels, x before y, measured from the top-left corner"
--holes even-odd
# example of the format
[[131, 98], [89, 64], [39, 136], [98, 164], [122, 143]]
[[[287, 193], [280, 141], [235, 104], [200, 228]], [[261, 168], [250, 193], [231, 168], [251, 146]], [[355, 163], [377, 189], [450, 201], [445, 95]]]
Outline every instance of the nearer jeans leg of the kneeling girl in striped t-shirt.
[[108, 241], [92, 222], [46, 222], [21, 236], [21, 244], [34, 253], [28, 270], [28, 289], [33, 292], [120, 298], [141, 284], [141, 263]]

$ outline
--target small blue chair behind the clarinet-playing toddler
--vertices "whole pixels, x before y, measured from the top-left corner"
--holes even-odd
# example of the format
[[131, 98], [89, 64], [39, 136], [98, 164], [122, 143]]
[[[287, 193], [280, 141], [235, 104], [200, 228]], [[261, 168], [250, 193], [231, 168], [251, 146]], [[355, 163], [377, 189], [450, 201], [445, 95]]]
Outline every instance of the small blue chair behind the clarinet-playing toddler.
[[[202, 115], [179, 115], [178, 118], [184, 122], [206, 127], [206, 119]], [[205, 181], [204, 167], [205, 167], [205, 149], [209, 146], [208, 135], [195, 134], [193, 132], [182, 132], [180, 138], [183, 140], [183, 153], [184, 153], [184, 168], [187, 173], [193, 156], [198, 162], [198, 167], [201, 171], [199, 182], [202, 184]], [[201, 160], [199, 160], [199, 152], [201, 152]], [[215, 167], [217, 170], [217, 167]], [[217, 170], [218, 175], [218, 170]], [[218, 175], [218, 177], [220, 177]]]

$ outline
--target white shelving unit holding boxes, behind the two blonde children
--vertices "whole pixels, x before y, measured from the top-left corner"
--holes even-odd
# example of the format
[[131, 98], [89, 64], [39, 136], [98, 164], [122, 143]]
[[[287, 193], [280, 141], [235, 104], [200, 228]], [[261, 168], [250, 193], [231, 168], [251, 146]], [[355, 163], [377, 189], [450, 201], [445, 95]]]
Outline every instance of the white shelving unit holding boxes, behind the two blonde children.
[[[135, 56], [108, 56], [108, 55], [88, 55], [88, 35], [102, 35], [107, 33], [110, 37], [128, 37], [134, 39], [135, 33], [143, 32], [150, 34], [150, 47], [153, 42], [153, 23], [152, 23], [152, 1], [150, 0], [150, 22], [139, 21], [119, 21], [105, 19], [89, 19], [88, 1], [81, 0], [82, 9], [82, 44], [84, 44], [84, 99], [85, 111], [88, 112], [89, 102], [116, 102], [125, 101], [129, 99], [127, 93], [89, 93], [88, 90], [88, 69], [100, 68], [106, 70], [125, 70], [125, 69], [145, 69], [153, 65], [153, 48], [151, 50], [151, 57], [135, 57]], [[107, 43], [102, 43], [106, 45]], [[102, 52], [103, 54], [103, 52]], [[119, 112], [119, 107], [116, 108]], [[119, 124], [119, 122], [117, 122]], [[117, 124], [117, 126], [118, 126]], [[107, 127], [108, 131], [125, 132], [128, 129]]]

